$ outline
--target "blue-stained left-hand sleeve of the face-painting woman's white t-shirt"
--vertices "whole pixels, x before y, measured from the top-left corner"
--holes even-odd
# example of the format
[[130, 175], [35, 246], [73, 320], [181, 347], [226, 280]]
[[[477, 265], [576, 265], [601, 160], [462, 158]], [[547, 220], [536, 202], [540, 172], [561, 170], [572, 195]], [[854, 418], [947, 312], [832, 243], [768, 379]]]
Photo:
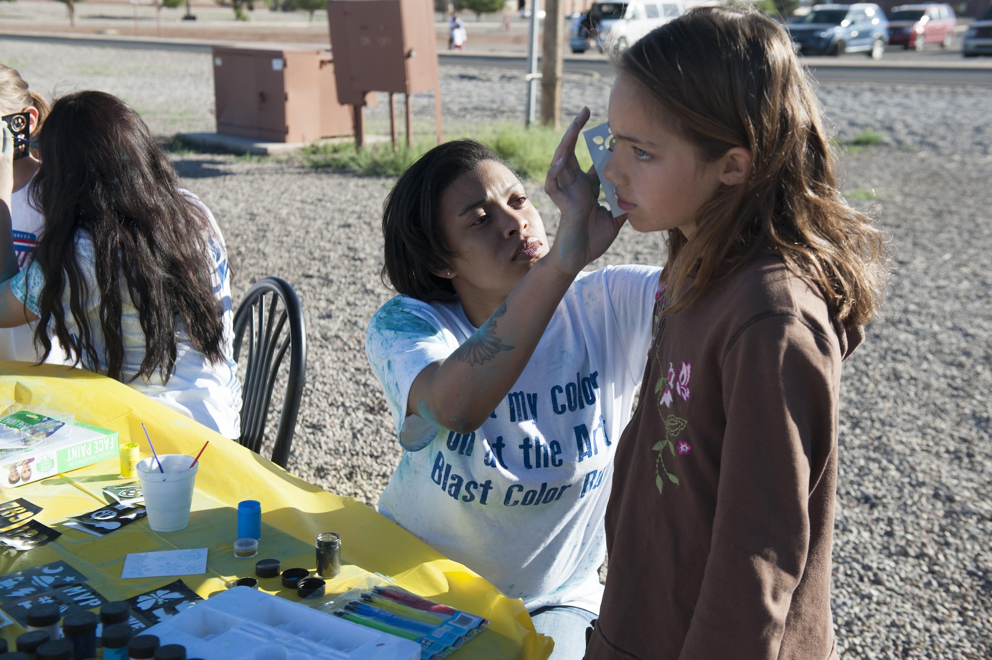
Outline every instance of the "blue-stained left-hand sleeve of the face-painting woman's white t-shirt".
[[372, 316], [365, 333], [365, 355], [386, 393], [400, 443], [410, 451], [426, 447], [437, 426], [418, 415], [407, 415], [410, 386], [424, 369], [458, 348], [443, 328], [434, 308], [398, 295]]

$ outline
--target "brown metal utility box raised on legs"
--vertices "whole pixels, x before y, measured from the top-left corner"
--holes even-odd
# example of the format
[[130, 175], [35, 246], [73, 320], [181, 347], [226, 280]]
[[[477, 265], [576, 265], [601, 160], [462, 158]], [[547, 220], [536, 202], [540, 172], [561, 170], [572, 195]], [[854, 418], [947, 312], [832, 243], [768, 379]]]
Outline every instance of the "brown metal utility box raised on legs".
[[[437, 137], [440, 93], [433, 0], [328, 0], [327, 23], [337, 71], [337, 96], [355, 106], [355, 137], [361, 144], [361, 97], [380, 91], [409, 96], [434, 90]], [[392, 97], [390, 98], [391, 116]], [[395, 121], [394, 143], [395, 143]]]

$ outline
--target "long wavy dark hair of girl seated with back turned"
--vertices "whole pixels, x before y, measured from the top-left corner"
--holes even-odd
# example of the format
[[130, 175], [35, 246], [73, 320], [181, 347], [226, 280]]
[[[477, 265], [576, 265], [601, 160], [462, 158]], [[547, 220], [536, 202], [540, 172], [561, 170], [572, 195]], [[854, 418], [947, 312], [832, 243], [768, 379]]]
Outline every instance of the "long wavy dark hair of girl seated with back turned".
[[[193, 347], [219, 362], [223, 308], [207, 256], [210, 225], [180, 193], [176, 169], [138, 114], [110, 94], [68, 94], [52, 108], [38, 148], [42, 164], [30, 191], [45, 216], [34, 254], [45, 275], [35, 331], [35, 343], [45, 352], [40, 362], [52, 351], [51, 330], [75, 364], [92, 369], [105, 357], [107, 376], [121, 380], [122, 291], [137, 308], [145, 334], [135, 378], [159, 372], [169, 380], [181, 324]], [[79, 232], [92, 239], [92, 265], [79, 262]], [[83, 307], [89, 295], [83, 272], [89, 268], [99, 293], [105, 356], [97, 355], [95, 329]], [[65, 324], [66, 285], [77, 336]]]

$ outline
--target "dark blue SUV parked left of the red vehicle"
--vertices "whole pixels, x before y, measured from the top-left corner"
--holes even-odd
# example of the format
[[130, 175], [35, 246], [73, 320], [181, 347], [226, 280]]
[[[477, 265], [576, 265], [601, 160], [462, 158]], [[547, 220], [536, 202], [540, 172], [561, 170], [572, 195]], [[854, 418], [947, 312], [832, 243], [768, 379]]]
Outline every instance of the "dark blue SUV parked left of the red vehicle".
[[804, 55], [864, 53], [881, 59], [889, 43], [889, 22], [873, 3], [815, 5], [789, 24], [796, 50]]

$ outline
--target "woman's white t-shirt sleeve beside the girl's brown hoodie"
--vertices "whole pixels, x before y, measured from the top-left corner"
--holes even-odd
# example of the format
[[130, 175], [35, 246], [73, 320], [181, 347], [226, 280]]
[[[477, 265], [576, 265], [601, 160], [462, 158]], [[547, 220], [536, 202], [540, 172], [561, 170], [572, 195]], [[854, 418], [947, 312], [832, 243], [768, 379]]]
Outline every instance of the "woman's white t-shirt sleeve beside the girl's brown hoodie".
[[640, 383], [651, 345], [652, 311], [662, 270], [652, 266], [607, 266], [601, 271], [605, 280], [607, 304], [626, 343], [627, 373], [633, 383]]

